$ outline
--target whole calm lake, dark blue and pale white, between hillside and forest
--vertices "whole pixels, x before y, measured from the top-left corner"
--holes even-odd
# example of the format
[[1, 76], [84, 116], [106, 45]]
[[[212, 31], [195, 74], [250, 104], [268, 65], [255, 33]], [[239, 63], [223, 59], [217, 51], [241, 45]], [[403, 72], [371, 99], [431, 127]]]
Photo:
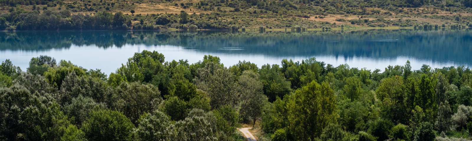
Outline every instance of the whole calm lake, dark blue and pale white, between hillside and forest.
[[238, 61], [280, 64], [284, 58], [316, 57], [333, 64], [384, 70], [410, 60], [418, 70], [471, 66], [472, 29], [344, 31], [16, 31], [0, 32], [0, 60], [23, 71], [32, 57], [49, 55], [109, 74], [135, 52], [156, 50], [166, 61], [216, 55], [225, 66]]

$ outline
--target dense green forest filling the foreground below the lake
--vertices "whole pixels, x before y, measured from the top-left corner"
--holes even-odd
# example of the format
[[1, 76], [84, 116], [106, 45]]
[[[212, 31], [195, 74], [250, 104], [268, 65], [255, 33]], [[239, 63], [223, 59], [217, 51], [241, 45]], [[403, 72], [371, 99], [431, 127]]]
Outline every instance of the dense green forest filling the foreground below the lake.
[[135, 53], [114, 73], [47, 55], [0, 65], [1, 141], [469, 141], [472, 72]]

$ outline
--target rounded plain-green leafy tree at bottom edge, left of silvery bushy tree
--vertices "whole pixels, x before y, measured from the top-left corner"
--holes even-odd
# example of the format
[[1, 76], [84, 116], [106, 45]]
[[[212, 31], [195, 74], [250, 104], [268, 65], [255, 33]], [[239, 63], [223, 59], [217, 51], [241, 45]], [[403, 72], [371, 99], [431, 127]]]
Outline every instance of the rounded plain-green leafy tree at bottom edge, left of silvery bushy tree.
[[129, 141], [132, 140], [133, 127], [121, 112], [93, 110], [81, 129], [89, 141]]

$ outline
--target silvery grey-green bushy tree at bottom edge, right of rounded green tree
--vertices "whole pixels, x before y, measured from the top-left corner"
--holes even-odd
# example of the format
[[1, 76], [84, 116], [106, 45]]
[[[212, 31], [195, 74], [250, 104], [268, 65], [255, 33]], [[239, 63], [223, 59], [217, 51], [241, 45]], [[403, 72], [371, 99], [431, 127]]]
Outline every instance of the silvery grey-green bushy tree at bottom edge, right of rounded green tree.
[[144, 113], [135, 129], [138, 141], [169, 141], [174, 135], [174, 124], [159, 110]]

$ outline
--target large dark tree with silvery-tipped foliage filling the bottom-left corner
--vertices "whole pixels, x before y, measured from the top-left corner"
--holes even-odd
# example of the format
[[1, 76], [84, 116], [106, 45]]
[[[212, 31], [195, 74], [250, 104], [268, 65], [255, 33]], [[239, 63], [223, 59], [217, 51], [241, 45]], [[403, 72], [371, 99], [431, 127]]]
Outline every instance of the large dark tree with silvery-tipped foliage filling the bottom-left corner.
[[51, 94], [18, 84], [0, 88], [0, 115], [0, 140], [57, 140], [70, 125]]

